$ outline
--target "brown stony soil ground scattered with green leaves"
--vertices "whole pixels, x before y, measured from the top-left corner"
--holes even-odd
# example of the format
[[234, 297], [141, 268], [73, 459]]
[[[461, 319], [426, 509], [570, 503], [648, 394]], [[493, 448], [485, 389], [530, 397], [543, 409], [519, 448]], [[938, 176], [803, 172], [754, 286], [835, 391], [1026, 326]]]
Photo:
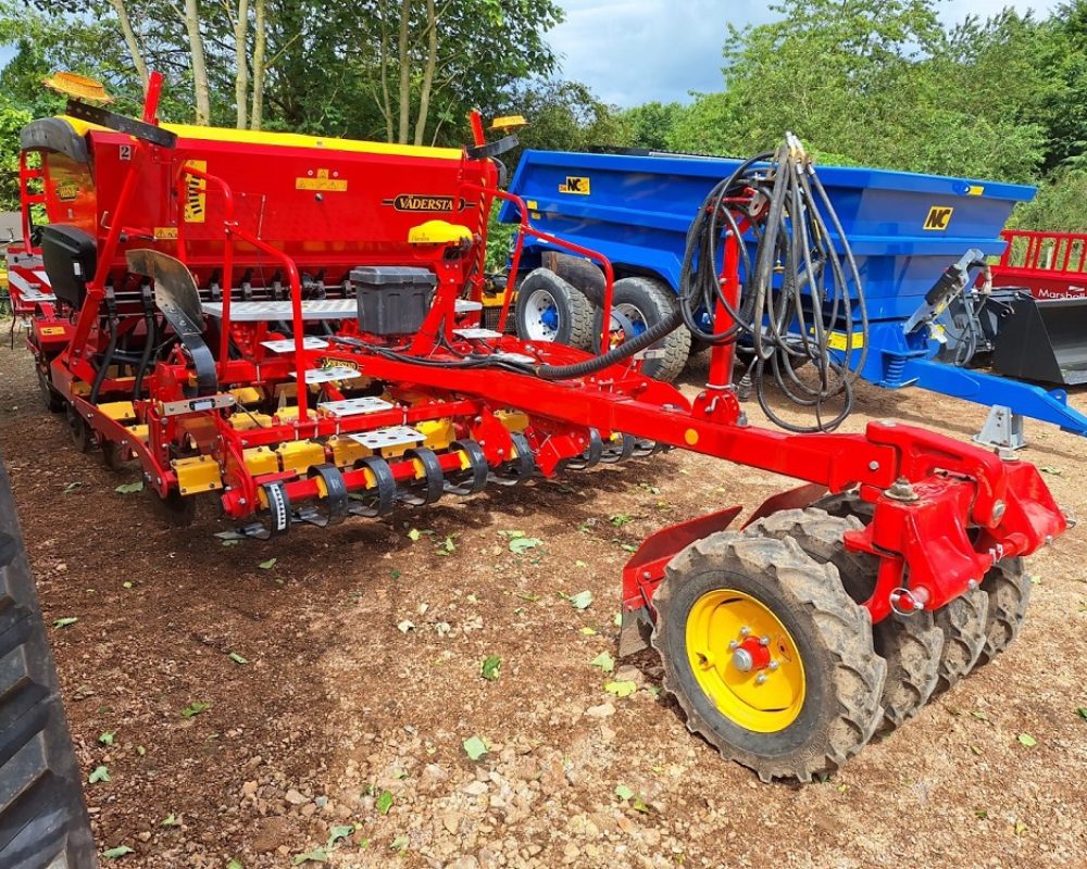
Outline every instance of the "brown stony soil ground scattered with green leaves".
[[[920, 391], [862, 388], [859, 407], [847, 429], [890, 416], [966, 439], [984, 417]], [[1040, 424], [1028, 437], [1023, 457], [1087, 515], [1085, 442]], [[687, 732], [651, 655], [615, 676], [590, 662], [615, 652], [632, 546], [753, 507], [780, 478], [672, 453], [224, 546], [213, 509], [166, 529], [146, 494], [115, 491], [135, 471], [75, 453], [17, 347], [0, 348], [0, 444], [46, 618], [78, 619], [50, 634], [79, 760], [109, 768], [86, 786], [95, 833], [103, 851], [134, 848], [105, 865], [1083, 864], [1082, 528], [1033, 558], [1032, 614], [1008, 653], [828, 781], [766, 785]], [[503, 531], [542, 543], [518, 555]], [[585, 590], [585, 610], [562, 596]], [[637, 692], [605, 692], [614, 678]], [[183, 717], [193, 703], [208, 707]], [[489, 744], [476, 763], [472, 736]]]

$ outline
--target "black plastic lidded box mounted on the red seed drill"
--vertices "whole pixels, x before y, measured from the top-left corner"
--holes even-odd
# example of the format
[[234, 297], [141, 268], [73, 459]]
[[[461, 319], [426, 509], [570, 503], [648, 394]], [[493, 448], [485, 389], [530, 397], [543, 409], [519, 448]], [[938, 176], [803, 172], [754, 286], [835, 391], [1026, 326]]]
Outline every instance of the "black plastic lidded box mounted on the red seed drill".
[[351, 269], [359, 299], [359, 328], [372, 335], [418, 331], [430, 310], [438, 276], [426, 268], [401, 265]]

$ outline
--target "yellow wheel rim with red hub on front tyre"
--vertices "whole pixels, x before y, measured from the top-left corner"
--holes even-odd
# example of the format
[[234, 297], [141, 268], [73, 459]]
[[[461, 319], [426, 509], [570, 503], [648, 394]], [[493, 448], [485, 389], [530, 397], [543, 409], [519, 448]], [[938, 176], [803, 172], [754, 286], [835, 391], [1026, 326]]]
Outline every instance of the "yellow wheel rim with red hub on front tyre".
[[804, 666], [792, 634], [750, 594], [717, 589], [695, 602], [687, 659], [717, 711], [746, 730], [776, 733], [804, 705]]

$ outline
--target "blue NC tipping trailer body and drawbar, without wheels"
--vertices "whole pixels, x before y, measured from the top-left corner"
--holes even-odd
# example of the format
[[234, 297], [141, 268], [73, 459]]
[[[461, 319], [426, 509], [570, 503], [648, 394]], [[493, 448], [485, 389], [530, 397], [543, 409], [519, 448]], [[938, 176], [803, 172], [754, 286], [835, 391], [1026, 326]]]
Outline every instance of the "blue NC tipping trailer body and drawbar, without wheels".
[[[603, 254], [616, 277], [648, 277], [676, 292], [690, 223], [711, 188], [739, 163], [528, 150], [510, 192], [526, 201], [536, 228]], [[820, 166], [819, 174], [864, 288], [870, 329], [863, 379], [1007, 407], [1087, 436], [1087, 417], [1067, 406], [1064, 390], [940, 362], [938, 325], [907, 330], [936, 279], [965, 251], [1003, 252], [1000, 230], [1016, 202], [1033, 199], [1034, 188], [845, 166]], [[517, 216], [507, 204], [500, 219], [515, 223]], [[539, 266], [548, 253], [546, 242], [527, 240], [523, 270]], [[849, 290], [857, 323], [857, 291]]]

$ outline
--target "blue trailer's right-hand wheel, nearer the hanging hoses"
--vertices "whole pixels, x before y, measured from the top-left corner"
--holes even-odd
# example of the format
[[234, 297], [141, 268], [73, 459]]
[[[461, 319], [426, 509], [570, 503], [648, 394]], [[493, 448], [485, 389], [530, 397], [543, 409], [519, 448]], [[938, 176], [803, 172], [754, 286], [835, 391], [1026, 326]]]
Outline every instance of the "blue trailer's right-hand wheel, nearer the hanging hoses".
[[[636, 338], [646, 329], [667, 319], [675, 313], [677, 304], [676, 294], [662, 281], [641, 277], [616, 280], [612, 288], [615, 343]], [[597, 308], [592, 328], [595, 347], [600, 343], [601, 325], [602, 312]], [[630, 335], [626, 335], [627, 329]], [[663, 351], [663, 354], [658, 358], [647, 358], [642, 373], [647, 377], [671, 383], [679, 376], [690, 356], [690, 332], [686, 326], [679, 326], [654, 344], [652, 350]]]

